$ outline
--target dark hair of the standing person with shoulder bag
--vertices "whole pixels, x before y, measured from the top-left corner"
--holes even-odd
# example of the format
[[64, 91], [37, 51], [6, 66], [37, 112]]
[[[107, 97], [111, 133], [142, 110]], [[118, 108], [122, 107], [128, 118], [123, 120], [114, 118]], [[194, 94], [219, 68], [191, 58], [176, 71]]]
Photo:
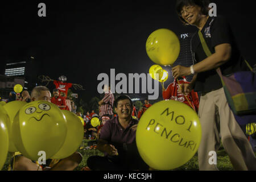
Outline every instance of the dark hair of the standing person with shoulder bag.
[[208, 0], [177, 0], [175, 9], [179, 16], [179, 19], [185, 25], [187, 25], [188, 23], [185, 22], [185, 20], [181, 17], [180, 12], [184, 6], [188, 6], [188, 5], [197, 5], [197, 6], [201, 7], [201, 13], [204, 15], [208, 15], [208, 13], [209, 13], [209, 1]]

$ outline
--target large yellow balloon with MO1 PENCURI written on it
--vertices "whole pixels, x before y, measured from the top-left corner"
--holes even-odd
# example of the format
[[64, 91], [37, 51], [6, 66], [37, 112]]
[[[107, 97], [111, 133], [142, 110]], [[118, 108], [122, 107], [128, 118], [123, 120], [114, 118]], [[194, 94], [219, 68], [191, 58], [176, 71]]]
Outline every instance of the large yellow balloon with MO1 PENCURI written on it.
[[201, 141], [196, 112], [179, 101], [160, 101], [149, 107], [139, 120], [136, 143], [148, 166], [170, 170], [187, 163]]

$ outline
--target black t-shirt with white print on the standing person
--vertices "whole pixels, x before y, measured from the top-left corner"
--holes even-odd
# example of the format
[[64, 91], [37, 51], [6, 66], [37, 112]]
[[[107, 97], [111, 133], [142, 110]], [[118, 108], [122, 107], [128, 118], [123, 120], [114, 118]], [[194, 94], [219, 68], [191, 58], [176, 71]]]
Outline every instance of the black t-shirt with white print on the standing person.
[[[222, 75], [228, 76], [237, 71], [248, 70], [237, 47], [237, 43], [234, 39], [230, 24], [226, 18], [223, 16], [209, 17], [201, 32], [204, 36], [205, 42], [210, 49], [210, 52], [212, 53], [215, 52], [214, 47], [220, 44], [231, 44], [232, 55], [230, 60], [220, 67]], [[207, 58], [207, 55], [205, 55], [204, 49], [201, 46], [197, 32], [195, 35], [193, 35], [191, 40], [191, 49], [193, 53], [194, 64]], [[196, 92], [210, 92], [220, 88], [222, 88], [221, 79], [215, 69], [197, 74], [194, 88]]]

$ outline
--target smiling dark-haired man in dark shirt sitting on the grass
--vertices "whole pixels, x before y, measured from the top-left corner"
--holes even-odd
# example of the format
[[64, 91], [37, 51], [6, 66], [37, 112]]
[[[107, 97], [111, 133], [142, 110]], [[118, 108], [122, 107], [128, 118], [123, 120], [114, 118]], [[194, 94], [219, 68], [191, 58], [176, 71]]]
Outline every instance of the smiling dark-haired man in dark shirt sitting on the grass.
[[118, 116], [105, 123], [98, 140], [97, 149], [105, 156], [90, 156], [88, 167], [96, 171], [148, 170], [135, 143], [138, 121], [131, 116], [133, 102], [119, 96], [114, 107]]

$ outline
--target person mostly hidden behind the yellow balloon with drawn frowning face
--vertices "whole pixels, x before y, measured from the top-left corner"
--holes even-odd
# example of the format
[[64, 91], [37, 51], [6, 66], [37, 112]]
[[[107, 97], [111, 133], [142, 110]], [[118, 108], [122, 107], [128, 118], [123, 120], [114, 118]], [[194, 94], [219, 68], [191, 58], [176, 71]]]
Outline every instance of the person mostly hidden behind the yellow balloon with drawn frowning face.
[[[31, 100], [50, 102], [51, 92], [49, 92], [49, 89], [46, 88], [45, 86], [36, 86], [31, 92]], [[78, 120], [79, 120], [79, 123], [81, 123], [79, 118]], [[82, 135], [83, 135], [83, 132], [82, 132]], [[82, 139], [82, 135], [81, 135], [81, 139]], [[57, 152], [57, 154], [59, 154], [59, 152]], [[43, 167], [44, 169], [49, 169], [51, 171], [72, 171], [79, 165], [81, 160], [82, 160], [81, 154], [79, 152], [75, 152], [71, 156], [68, 156], [60, 160], [47, 159], [46, 160], [47, 165], [44, 165]], [[42, 168], [39, 168], [36, 162], [32, 162], [32, 160], [26, 158], [21, 154], [19, 154], [18, 156], [15, 156], [13, 166], [15, 171], [42, 171]]]

